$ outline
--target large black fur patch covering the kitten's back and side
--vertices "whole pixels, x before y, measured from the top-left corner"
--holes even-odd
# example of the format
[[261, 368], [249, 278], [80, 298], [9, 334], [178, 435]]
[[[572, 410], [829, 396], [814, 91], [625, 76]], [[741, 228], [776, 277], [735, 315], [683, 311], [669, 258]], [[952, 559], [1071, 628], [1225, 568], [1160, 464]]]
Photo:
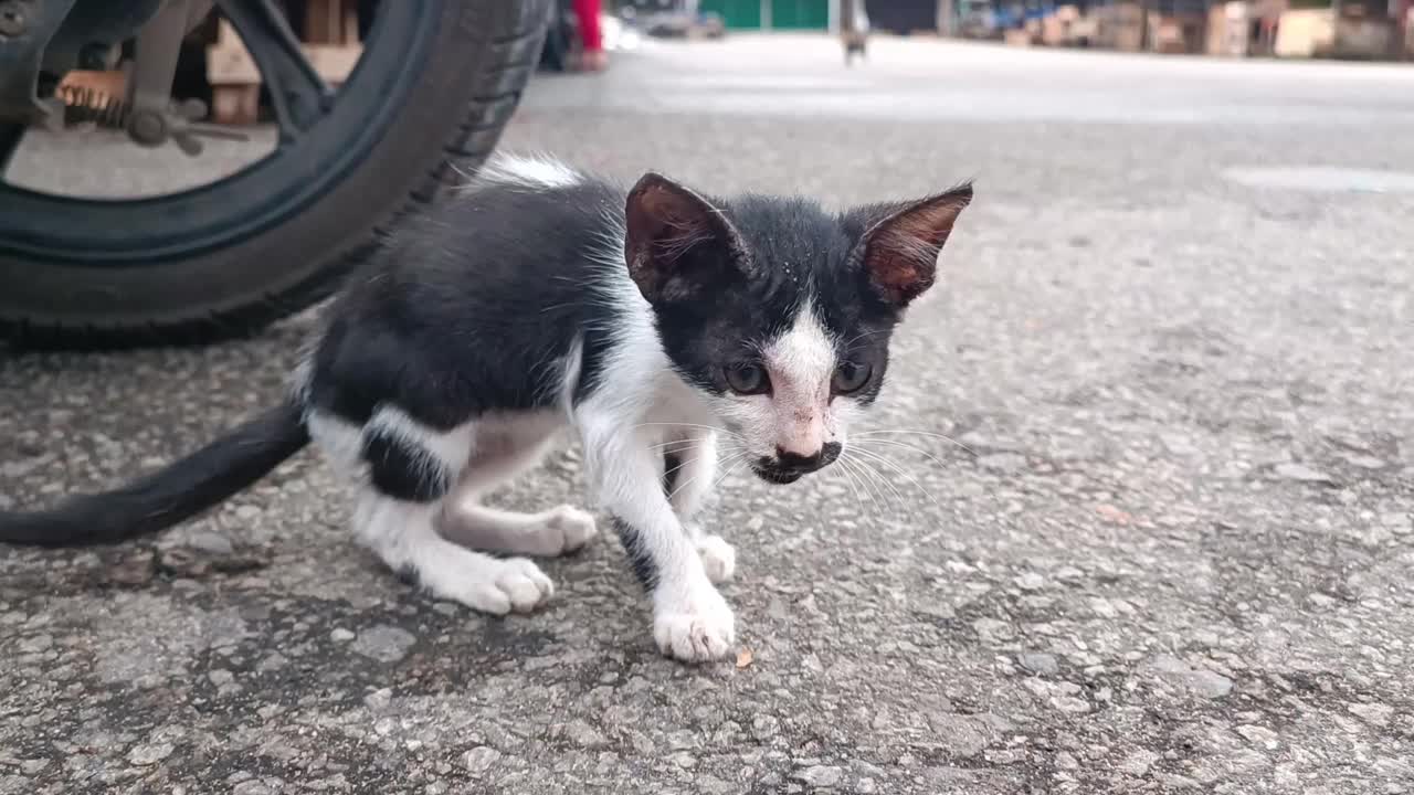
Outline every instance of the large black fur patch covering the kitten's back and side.
[[544, 409], [575, 341], [583, 400], [622, 327], [601, 287], [626, 280], [626, 266], [594, 259], [622, 259], [605, 224], [622, 205], [624, 191], [588, 181], [486, 187], [409, 216], [331, 307], [312, 405], [355, 424], [397, 406], [437, 430]]

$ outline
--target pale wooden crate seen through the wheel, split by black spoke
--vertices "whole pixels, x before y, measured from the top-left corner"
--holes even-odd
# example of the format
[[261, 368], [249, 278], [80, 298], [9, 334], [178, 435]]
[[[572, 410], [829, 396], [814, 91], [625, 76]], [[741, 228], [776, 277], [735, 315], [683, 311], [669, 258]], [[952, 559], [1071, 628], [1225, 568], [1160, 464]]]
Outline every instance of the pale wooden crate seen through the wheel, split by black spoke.
[[[363, 47], [358, 35], [355, 0], [308, 0], [304, 57], [329, 85], [341, 85], [358, 64]], [[253, 124], [260, 113], [260, 69], [240, 42], [240, 35], [221, 20], [216, 42], [206, 48], [212, 120], [219, 124]]]

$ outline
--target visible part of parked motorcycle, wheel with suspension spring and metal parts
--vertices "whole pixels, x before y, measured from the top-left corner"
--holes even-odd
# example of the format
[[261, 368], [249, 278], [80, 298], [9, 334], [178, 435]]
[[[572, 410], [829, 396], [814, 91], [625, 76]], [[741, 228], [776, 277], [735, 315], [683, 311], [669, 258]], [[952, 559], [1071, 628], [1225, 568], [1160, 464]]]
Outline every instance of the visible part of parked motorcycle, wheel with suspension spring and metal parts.
[[[294, 0], [298, 1], [298, 0]], [[249, 335], [338, 286], [397, 221], [491, 154], [553, 0], [359, 0], [332, 88], [279, 0], [0, 0], [0, 337], [113, 348]], [[269, 154], [178, 192], [99, 199], [4, 181], [27, 134], [79, 126], [175, 147], [243, 127], [173, 100], [182, 40], [219, 14], [259, 69]], [[71, 91], [119, 71], [123, 96]]]

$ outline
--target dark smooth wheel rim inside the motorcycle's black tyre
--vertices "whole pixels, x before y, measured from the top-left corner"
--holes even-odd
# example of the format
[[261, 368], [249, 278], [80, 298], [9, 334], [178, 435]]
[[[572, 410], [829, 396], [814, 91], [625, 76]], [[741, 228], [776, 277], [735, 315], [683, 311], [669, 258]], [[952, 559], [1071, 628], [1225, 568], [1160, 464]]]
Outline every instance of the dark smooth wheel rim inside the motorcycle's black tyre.
[[[270, 33], [270, 18], [260, 18], [277, 14], [276, 6], [218, 3], [236, 11], [228, 18], [240, 20], [242, 40], [270, 88], [280, 126], [276, 149], [225, 178], [161, 197], [75, 198], [0, 182], [0, 255], [82, 266], [150, 265], [230, 246], [290, 219], [358, 167], [396, 122], [396, 98], [406, 96], [420, 75], [443, 1], [379, 3], [354, 72], [337, 95], [315, 96], [318, 108], [310, 108], [311, 91], [318, 92], [308, 79], [312, 69], [303, 55], [303, 66], [290, 57], [288, 41], [279, 41], [277, 30]], [[260, 27], [267, 38], [253, 41]], [[267, 72], [271, 59], [281, 72], [274, 78]], [[293, 100], [281, 103], [276, 95]]]

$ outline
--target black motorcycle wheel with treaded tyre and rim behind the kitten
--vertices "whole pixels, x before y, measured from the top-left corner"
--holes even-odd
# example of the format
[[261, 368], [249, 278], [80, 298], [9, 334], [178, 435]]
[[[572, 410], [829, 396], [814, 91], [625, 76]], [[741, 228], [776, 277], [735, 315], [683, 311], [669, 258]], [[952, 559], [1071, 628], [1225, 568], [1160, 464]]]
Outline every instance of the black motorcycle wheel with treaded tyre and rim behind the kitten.
[[96, 201], [0, 182], [0, 337], [202, 344], [329, 296], [400, 215], [491, 154], [546, 14], [546, 0], [385, 0], [342, 89], [317, 113], [277, 113], [274, 151], [209, 185]]

